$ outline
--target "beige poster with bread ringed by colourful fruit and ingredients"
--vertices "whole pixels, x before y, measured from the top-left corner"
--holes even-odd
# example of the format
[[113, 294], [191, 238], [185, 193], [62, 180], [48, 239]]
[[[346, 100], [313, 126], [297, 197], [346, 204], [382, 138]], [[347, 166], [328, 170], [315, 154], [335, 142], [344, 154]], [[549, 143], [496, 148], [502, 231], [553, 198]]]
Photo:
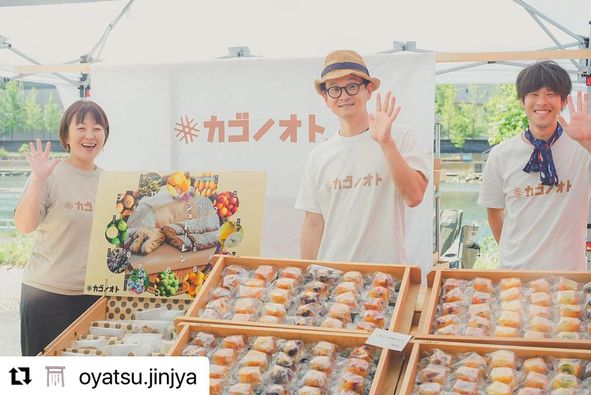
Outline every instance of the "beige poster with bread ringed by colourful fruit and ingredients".
[[103, 172], [90, 295], [193, 298], [214, 254], [259, 256], [264, 172]]

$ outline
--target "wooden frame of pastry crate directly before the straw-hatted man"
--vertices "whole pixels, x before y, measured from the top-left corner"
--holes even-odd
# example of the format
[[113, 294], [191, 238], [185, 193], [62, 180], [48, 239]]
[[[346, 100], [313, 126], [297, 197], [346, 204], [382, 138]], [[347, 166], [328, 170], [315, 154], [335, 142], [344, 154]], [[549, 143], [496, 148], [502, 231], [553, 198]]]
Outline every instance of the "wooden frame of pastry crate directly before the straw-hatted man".
[[209, 295], [213, 288], [215, 288], [222, 278], [222, 272], [229, 265], [242, 265], [250, 269], [254, 269], [260, 265], [272, 265], [276, 267], [294, 266], [302, 270], [306, 270], [310, 265], [321, 265], [329, 268], [341, 270], [343, 272], [356, 270], [361, 273], [374, 273], [381, 271], [389, 273], [401, 280], [400, 290], [398, 292], [398, 299], [394, 306], [392, 317], [387, 327], [394, 332], [409, 333], [413, 312], [419, 289], [421, 286], [421, 271], [416, 266], [407, 265], [390, 265], [390, 264], [375, 264], [375, 263], [351, 263], [351, 262], [323, 262], [323, 261], [307, 261], [307, 260], [290, 260], [290, 259], [266, 259], [253, 257], [233, 257], [220, 256], [214, 265], [214, 269], [209, 273], [207, 280], [201, 287], [201, 291], [195, 296], [195, 300], [187, 310], [184, 317], [177, 318], [177, 323], [180, 322], [207, 322], [211, 324], [230, 324], [230, 325], [246, 325], [261, 328], [283, 328], [283, 329], [303, 329], [303, 330], [321, 330], [321, 331], [336, 331], [347, 333], [367, 333], [363, 331], [354, 331], [349, 329], [332, 329], [321, 328], [317, 326], [295, 326], [286, 324], [264, 324], [258, 322], [239, 322], [229, 320], [216, 319], [201, 319], [197, 315], [201, 309], [205, 307], [208, 302]]

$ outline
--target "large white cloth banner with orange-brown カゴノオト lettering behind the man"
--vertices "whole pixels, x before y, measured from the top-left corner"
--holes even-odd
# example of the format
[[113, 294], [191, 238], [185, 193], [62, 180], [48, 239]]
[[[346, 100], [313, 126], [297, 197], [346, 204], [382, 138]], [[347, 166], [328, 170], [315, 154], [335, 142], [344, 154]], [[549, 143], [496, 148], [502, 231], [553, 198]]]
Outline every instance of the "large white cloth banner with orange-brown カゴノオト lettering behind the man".
[[[429, 155], [433, 145], [433, 54], [371, 55], [381, 91], [392, 90]], [[93, 99], [111, 136], [99, 157], [107, 170], [265, 171], [262, 256], [299, 257], [303, 212], [294, 209], [310, 150], [338, 131], [316, 93], [323, 59], [241, 58], [151, 66], [96, 66]], [[369, 109], [374, 108], [374, 99]], [[431, 175], [429, 175], [431, 177]], [[407, 210], [409, 261], [432, 266], [433, 199]], [[425, 270], [424, 270], [425, 273]]]

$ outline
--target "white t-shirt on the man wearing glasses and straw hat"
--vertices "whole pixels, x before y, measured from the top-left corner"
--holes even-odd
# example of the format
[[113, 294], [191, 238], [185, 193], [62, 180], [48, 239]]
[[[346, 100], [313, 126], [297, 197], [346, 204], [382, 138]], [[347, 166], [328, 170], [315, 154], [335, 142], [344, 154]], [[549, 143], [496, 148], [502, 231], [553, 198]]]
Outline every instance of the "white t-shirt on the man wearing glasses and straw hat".
[[[428, 178], [428, 155], [412, 130], [395, 127], [392, 135], [408, 165]], [[324, 218], [319, 260], [407, 261], [405, 204], [369, 132], [354, 137], [337, 133], [312, 150], [295, 207]]]

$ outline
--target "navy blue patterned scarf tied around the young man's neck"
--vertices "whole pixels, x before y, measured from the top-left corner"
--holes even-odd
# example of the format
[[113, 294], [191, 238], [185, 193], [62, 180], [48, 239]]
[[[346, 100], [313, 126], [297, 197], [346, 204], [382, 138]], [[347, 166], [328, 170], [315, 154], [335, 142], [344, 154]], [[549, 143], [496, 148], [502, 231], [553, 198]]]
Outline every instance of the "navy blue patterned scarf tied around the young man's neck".
[[527, 141], [533, 144], [534, 152], [531, 153], [531, 157], [523, 171], [526, 173], [539, 171], [542, 185], [558, 185], [558, 174], [556, 174], [556, 167], [554, 167], [551, 147], [562, 134], [562, 126], [560, 124], [556, 126], [554, 134], [548, 141], [536, 139], [531, 134], [529, 127], [524, 134]]

